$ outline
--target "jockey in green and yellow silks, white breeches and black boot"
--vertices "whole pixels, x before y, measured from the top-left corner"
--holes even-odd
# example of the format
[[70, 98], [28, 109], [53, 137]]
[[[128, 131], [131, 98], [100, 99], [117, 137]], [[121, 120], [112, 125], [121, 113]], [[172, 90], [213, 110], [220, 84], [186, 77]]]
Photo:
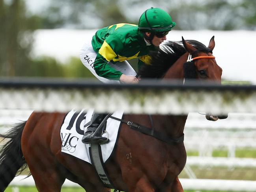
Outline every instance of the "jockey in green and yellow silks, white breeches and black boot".
[[[151, 7], [142, 13], [138, 25], [119, 23], [98, 30], [92, 41], [82, 47], [80, 59], [103, 83], [138, 83], [136, 72], [127, 60], [138, 58], [138, 69], [148, 64], [149, 51], [158, 50], [175, 25], [163, 9]], [[101, 135], [92, 136], [105, 116], [93, 114], [82, 142], [107, 141]]]

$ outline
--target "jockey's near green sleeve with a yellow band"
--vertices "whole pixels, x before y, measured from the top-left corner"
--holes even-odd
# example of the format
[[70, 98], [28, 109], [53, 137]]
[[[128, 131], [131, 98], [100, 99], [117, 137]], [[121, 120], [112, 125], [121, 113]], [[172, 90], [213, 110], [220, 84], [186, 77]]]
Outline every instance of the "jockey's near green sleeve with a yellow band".
[[[97, 53], [93, 64], [97, 75], [111, 80], [119, 80], [122, 73], [110, 67], [108, 62], [115, 58], [123, 49], [123, 43], [116, 35], [109, 35]], [[118, 64], [118, 63], [117, 63]]]

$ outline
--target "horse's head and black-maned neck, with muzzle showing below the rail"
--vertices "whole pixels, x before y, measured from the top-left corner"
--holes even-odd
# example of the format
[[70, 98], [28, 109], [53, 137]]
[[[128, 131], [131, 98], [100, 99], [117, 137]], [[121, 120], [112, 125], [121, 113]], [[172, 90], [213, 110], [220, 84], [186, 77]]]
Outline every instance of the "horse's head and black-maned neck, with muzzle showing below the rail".
[[[185, 78], [185, 83], [188, 79], [197, 79], [221, 84], [222, 69], [212, 54], [214, 47], [214, 36], [208, 47], [195, 40], [184, 40], [183, 37], [181, 42], [166, 41], [158, 52], [152, 54], [149, 65], [144, 65], [138, 71], [138, 76], [143, 79]], [[187, 59], [188, 56], [191, 56], [191, 59]], [[206, 118], [211, 121], [226, 117], [206, 114]]]

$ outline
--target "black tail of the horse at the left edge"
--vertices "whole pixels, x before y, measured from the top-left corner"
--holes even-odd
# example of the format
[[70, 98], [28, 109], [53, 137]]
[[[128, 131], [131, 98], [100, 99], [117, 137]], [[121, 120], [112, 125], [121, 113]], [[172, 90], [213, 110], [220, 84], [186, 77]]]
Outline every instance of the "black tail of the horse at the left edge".
[[6, 134], [0, 134], [3, 139], [9, 139], [0, 149], [0, 192], [6, 189], [16, 174], [19, 175], [27, 167], [21, 151], [21, 134], [25, 124], [26, 121], [18, 123]]

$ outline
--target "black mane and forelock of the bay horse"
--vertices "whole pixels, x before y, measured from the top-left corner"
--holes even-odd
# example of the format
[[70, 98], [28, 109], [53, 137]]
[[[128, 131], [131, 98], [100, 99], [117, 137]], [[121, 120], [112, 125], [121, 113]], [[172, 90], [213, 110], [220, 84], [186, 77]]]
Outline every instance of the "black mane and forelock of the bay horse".
[[[186, 40], [200, 52], [211, 52], [204, 44], [195, 40]], [[144, 65], [138, 75], [141, 78], [162, 78], [167, 70], [187, 51], [181, 41], [166, 41], [158, 52], [151, 52], [150, 65]], [[197, 51], [196, 51], [197, 52]]]

